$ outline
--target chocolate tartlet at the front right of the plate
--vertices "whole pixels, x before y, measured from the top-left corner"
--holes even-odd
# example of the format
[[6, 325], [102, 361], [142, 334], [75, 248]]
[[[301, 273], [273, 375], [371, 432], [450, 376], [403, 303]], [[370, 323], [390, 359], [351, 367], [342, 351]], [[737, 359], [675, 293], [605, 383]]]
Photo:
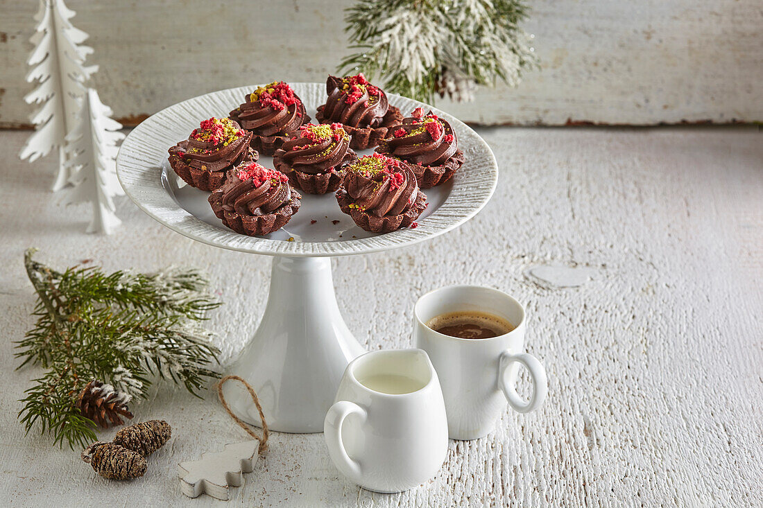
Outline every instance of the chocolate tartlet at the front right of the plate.
[[372, 233], [415, 227], [414, 220], [427, 207], [427, 195], [419, 190], [410, 166], [380, 153], [347, 166], [336, 201], [359, 227]]

